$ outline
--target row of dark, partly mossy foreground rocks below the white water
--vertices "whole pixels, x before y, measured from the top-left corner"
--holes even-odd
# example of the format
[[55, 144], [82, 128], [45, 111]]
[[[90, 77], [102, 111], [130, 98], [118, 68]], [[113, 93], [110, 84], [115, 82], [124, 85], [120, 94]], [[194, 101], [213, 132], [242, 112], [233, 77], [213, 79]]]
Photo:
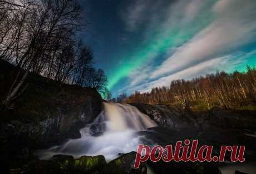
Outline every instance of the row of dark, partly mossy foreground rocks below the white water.
[[53, 173], [99, 173], [99, 174], [146, 174], [146, 165], [134, 169], [136, 152], [125, 153], [106, 163], [104, 156], [81, 156], [74, 159], [69, 155], [55, 155], [51, 160], [33, 160], [21, 168], [12, 170], [11, 174], [53, 174]]

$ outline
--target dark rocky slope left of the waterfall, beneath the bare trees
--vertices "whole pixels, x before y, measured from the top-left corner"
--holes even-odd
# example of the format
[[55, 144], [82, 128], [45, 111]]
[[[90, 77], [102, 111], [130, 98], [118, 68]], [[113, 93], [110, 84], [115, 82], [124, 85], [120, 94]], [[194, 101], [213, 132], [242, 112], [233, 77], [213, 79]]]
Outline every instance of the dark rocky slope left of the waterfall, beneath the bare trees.
[[[1, 99], [16, 72], [11, 64], [0, 62]], [[34, 74], [29, 74], [26, 84], [27, 89], [11, 109], [0, 108], [1, 156], [5, 160], [22, 159], [31, 155], [31, 149], [79, 138], [79, 129], [101, 112], [102, 99], [96, 89], [61, 84]]]

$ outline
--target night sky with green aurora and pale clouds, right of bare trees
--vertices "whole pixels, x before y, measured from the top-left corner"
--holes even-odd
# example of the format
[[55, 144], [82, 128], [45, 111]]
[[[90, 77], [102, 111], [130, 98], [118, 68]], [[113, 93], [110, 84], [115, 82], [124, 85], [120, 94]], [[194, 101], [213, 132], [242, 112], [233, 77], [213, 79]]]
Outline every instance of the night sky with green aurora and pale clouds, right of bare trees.
[[255, 0], [81, 0], [112, 96], [256, 65]]

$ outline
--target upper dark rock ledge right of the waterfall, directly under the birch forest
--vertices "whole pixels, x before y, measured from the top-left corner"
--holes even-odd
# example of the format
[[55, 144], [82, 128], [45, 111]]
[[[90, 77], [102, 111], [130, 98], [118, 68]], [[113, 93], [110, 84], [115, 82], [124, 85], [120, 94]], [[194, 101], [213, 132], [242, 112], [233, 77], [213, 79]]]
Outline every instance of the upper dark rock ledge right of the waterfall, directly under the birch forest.
[[213, 108], [209, 111], [196, 113], [183, 109], [181, 106], [137, 104], [142, 113], [150, 116], [157, 125], [168, 128], [179, 127], [220, 127], [223, 129], [238, 129], [256, 131], [256, 115], [250, 111], [233, 111], [223, 108]]

